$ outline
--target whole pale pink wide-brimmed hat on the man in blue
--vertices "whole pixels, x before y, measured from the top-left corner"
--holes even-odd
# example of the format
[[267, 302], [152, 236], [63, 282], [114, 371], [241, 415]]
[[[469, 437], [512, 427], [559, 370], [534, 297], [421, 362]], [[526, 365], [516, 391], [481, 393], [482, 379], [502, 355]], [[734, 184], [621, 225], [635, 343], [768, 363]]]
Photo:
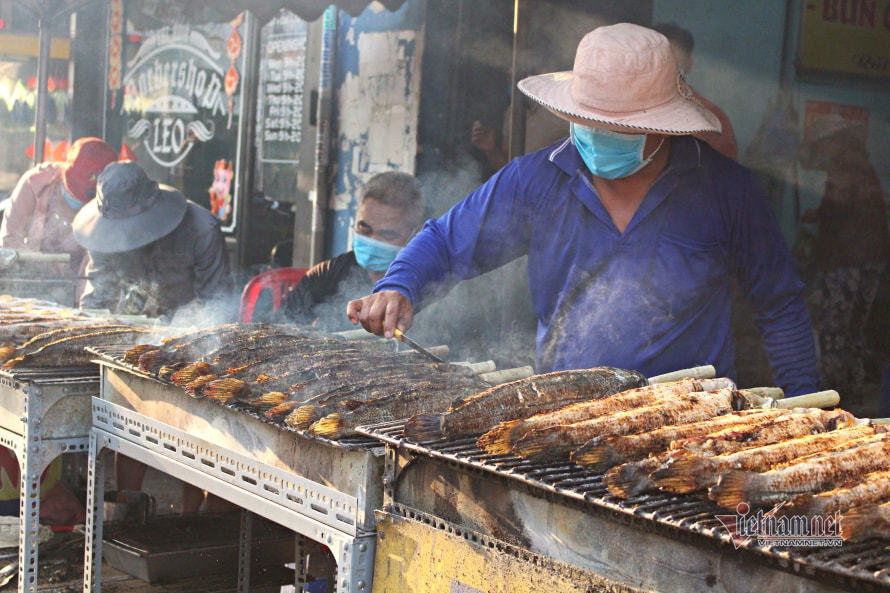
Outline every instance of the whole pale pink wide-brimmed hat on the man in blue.
[[519, 90], [557, 116], [628, 132], [720, 132], [677, 68], [667, 37], [618, 23], [584, 36], [571, 71], [530, 76]]

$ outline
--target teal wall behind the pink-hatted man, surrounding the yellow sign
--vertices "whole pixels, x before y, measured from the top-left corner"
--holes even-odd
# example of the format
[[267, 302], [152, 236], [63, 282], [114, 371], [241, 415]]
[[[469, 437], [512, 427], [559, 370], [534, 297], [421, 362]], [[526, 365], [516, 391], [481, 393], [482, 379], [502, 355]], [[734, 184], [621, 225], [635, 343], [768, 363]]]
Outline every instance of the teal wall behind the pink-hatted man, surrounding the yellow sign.
[[[809, 0], [818, 10], [825, 0]], [[782, 63], [785, 2], [779, 0], [656, 0], [654, 22], [673, 21], [695, 37], [695, 65], [690, 83], [717, 103], [730, 117], [739, 143], [740, 160], [750, 165], [747, 151], [758, 127], [769, 115], [770, 102], [779, 93], [784, 69], [787, 87], [802, 129], [806, 101], [819, 100], [865, 107], [869, 110], [868, 148], [886, 195], [890, 195], [890, 85], [886, 79], [853, 79], [836, 75], [804, 76], [795, 72], [802, 0], [792, 0], [793, 18], [789, 56]], [[792, 139], [796, 140], [796, 139]], [[801, 211], [813, 208], [822, 195], [825, 174], [798, 168], [796, 175]], [[794, 193], [789, 186], [777, 206], [789, 242], [798, 224]]]

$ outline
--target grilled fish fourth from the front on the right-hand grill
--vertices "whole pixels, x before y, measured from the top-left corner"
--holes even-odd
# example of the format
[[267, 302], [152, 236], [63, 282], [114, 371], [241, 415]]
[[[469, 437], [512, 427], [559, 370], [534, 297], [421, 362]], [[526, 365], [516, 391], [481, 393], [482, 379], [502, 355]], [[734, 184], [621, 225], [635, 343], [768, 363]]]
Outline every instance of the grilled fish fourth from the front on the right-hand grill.
[[662, 490], [684, 494], [713, 486], [721, 475], [731, 470], [763, 472], [780, 463], [827, 451], [874, 434], [875, 429], [872, 426], [857, 426], [790, 438], [716, 457], [686, 455], [658, 470], [652, 477]]

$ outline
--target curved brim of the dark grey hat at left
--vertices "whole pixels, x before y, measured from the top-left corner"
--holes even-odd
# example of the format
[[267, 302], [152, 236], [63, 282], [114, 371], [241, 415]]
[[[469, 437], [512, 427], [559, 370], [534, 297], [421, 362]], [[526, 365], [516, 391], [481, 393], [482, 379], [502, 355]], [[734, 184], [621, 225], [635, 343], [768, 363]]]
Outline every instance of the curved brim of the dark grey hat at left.
[[173, 232], [185, 217], [186, 207], [185, 196], [167, 185], [159, 186], [151, 208], [129, 218], [102, 216], [99, 200], [93, 199], [74, 217], [74, 238], [90, 251], [131, 251]]

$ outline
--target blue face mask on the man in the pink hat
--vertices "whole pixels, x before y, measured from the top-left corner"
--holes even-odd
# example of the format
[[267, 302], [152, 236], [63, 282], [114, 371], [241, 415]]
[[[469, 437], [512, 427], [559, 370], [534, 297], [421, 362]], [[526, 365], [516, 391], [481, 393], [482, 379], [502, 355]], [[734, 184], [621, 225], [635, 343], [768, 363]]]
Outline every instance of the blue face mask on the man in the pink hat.
[[[636, 173], [650, 162], [661, 148], [658, 145], [648, 159], [643, 158], [646, 134], [621, 134], [600, 128], [571, 125], [572, 143], [590, 172], [604, 179], [618, 179]], [[664, 139], [662, 139], [662, 144]]]

